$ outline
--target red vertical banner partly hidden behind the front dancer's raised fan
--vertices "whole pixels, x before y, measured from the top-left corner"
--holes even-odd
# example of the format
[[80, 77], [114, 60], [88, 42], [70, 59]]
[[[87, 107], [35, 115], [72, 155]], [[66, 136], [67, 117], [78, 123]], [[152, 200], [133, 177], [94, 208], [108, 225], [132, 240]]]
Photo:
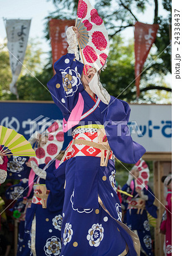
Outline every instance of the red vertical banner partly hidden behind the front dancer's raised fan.
[[[51, 19], [49, 22], [49, 35], [52, 47], [52, 65], [55, 64], [61, 56], [67, 54], [67, 28], [75, 26], [75, 20]], [[55, 70], [53, 69], [55, 75]]]

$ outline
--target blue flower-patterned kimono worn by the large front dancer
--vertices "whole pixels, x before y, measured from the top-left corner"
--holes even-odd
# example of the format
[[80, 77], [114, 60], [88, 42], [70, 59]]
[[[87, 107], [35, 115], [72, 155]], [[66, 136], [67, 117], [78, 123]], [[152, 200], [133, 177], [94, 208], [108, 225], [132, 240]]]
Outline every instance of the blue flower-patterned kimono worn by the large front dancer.
[[[68, 53], [55, 63], [56, 75], [47, 84], [65, 121], [68, 121], [77, 104], [79, 93], [84, 99], [83, 113], [96, 104], [81, 83], [82, 68], [83, 64]], [[136, 163], [145, 150], [130, 137], [127, 128], [129, 115], [129, 105], [111, 96], [109, 105], [100, 102], [94, 112], [78, 125], [83, 125], [83, 121], [84, 125], [90, 122], [104, 125], [115, 156], [123, 162]], [[118, 124], [121, 122], [122, 133], [118, 136]], [[121, 204], [110, 181], [110, 177], [115, 175], [113, 160], [110, 159], [105, 167], [100, 166], [98, 157], [76, 156], [63, 162], [55, 175], [59, 177], [64, 173], [66, 186], [61, 255], [138, 255], [138, 237], [121, 222]]]

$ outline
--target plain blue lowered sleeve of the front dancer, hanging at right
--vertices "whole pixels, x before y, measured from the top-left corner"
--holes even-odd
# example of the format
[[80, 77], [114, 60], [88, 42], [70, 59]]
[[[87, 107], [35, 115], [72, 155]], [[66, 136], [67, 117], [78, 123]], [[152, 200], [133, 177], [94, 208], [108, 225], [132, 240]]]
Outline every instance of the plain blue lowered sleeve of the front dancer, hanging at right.
[[137, 163], [146, 152], [145, 148], [131, 138], [127, 123], [130, 117], [127, 102], [111, 96], [104, 111], [104, 125], [107, 139], [114, 155], [124, 163]]

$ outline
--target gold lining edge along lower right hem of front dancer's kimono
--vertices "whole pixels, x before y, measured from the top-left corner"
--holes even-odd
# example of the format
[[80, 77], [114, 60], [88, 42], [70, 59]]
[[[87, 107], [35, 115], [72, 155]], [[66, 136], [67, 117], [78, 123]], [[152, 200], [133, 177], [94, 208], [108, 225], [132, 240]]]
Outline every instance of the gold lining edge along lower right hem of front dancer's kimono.
[[[139, 237], [137, 236], [137, 234], [135, 234], [134, 232], [132, 232], [125, 224], [123, 224], [121, 221], [116, 220], [113, 216], [111, 216], [110, 212], [106, 209], [105, 205], [103, 204], [100, 196], [98, 195], [98, 203], [101, 205], [101, 207], [105, 210], [106, 213], [108, 213], [110, 215], [111, 218], [113, 218], [113, 220], [115, 220], [117, 222], [118, 225], [120, 225], [123, 229], [125, 229], [125, 231], [130, 235], [131, 239], [133, 240], [133, 245], [134, 248], [137, 252], [137, 255], [140, 255], [140, 241], [139, 241]], [[126, 250], [126, 254], [128, 253], [128, 250]], [[123, 253], [125, 253], [125, 251], [123, 251]], [[126, 255], [126, 254], [120, 254], [122, 256]]]

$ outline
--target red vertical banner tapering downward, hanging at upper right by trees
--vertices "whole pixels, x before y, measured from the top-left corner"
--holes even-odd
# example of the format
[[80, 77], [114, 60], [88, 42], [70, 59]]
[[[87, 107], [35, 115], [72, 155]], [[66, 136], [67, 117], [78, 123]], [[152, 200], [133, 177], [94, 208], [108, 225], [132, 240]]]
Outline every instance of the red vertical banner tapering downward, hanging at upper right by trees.
[[159, 24], [135, 23], [135, 85], [137, 87], [137, 97], [140, 94], [140, 73], [142, 72], [150, 48], [156, 39], [158, 28]]

